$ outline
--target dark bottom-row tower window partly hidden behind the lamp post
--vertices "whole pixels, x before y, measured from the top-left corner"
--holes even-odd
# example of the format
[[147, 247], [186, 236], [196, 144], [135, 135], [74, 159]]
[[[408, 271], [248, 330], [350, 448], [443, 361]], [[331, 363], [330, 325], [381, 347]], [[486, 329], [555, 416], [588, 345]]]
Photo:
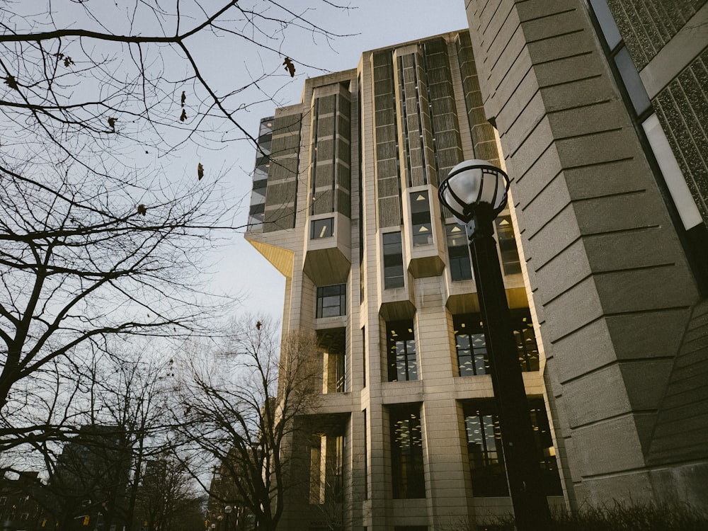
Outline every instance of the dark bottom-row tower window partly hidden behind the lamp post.
[[[547, 496], [559, 495], [561, 481], [543, 400], [530, 399], [529, 409], [542, 487]], [[508, 496], [501, 430], [493, 402], [467, 402], [463, 414], [473, 496]]]

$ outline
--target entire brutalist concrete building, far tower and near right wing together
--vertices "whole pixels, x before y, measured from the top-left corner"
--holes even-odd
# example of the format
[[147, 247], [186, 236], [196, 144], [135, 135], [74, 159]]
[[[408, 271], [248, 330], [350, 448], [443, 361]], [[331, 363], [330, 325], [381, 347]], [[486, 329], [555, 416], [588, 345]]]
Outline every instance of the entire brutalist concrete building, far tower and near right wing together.
[[706, 508], [708, 4], [467, 14], [261, 124], [246, 237], [322, 364], [285, 527], [510, 511], [467, 242], [437, 198], [464, 159], [512, 179], [496, 232], [549, 501]]

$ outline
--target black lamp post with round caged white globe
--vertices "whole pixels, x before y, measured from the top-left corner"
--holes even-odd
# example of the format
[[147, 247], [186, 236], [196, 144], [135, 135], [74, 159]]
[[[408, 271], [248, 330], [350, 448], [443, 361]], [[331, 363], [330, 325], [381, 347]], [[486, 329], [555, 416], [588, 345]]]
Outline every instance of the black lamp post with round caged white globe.
[[524, 380], [493, 238], [493, 221], [506, 206], [508, 189], [506, 173], [487, 161], [475, 159], [450, 170], [440, 183], [438, 194], [442, 204], [467, 230], [516, 528], [541, 531], [550, 522], [550, 512], [542, 489]]

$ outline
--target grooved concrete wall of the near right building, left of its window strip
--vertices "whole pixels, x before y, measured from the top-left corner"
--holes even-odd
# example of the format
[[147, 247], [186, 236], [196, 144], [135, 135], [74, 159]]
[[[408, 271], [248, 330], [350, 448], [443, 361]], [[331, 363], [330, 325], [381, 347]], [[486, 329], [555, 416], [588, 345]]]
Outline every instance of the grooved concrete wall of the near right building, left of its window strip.
[[678, 237], [586, 3], [469, 0], [467, 13], [513, 178], [569, 500], [656, 498], [646, 456], [700, 297]]

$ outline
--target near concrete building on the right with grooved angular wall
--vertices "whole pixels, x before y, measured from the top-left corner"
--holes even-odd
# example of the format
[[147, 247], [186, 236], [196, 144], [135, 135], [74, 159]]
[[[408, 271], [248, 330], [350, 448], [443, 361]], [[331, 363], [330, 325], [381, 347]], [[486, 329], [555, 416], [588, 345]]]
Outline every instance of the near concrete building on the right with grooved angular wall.
[[568, 501], [706, 508], [708, 4], [466, 6]]

